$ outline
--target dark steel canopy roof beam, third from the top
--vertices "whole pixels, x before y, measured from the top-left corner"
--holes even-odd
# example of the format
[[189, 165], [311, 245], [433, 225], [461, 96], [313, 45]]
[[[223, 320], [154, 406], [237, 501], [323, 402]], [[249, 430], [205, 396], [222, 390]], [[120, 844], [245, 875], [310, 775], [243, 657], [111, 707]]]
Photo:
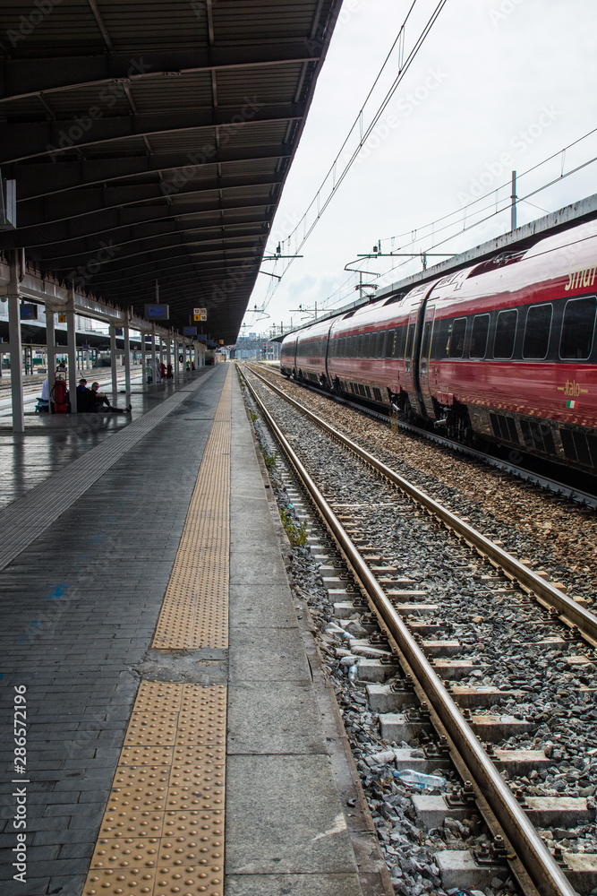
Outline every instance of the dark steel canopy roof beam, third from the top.
[[238, 146], [217, 149], [213, 144], [197, 152], [172, 152], [143, 156], [115, 156], [109, 159], [73, 159], [68, 162], [24, 162], [15, 164], [11, 177], [17, 181], [17, 195], [21, 199], [75, 190], [81, 186], [104, 184], [153, 173], [175, 171], [172, 183], [165, 179], [163, 192], [175, 196], [178, 185], [184, 187], [208, 166], [226, 162], [251, 163], [261, 159], [287, 159], [292, 155], [290, 144], [273, 143], [264, 146]]

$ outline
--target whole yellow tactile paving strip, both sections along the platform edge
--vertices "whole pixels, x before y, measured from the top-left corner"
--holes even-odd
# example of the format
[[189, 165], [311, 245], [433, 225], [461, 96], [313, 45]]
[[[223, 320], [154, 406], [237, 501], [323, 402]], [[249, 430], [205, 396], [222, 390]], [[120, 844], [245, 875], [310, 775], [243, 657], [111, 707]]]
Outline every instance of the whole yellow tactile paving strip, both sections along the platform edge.
[[[231, 373], [152, 646], [228, 646]], [[83, 896], [223, 896], [226, 685], [142, 681]]]

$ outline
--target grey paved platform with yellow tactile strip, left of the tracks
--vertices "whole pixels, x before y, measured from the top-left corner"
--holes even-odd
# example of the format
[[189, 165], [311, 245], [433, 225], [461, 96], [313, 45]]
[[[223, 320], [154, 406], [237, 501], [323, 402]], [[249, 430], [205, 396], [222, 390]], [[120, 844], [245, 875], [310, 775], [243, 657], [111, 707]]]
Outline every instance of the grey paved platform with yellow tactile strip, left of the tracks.
[[2, 892], [391, 892], [235, 370], [159, 399], [6, 478]]

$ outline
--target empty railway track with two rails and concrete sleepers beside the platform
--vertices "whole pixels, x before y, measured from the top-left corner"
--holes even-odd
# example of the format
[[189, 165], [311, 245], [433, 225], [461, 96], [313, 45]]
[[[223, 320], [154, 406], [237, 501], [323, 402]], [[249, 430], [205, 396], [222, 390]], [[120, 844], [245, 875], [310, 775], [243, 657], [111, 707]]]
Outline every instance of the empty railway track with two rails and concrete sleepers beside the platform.
[[[355, 670], [356, 685], [365, 689], [369, 709], [379, 722], [380, 744], [405, 744], [402, 748], [394, 748], [394, 760], [390, 761], [390, 766], [397, 767], [399, 771], [400, 763], [403, 769], [404, 762], [410, 762], [409, 767], [416, 765], [418, 757], [412, 754], [398, 756], [400, 749], [403, 753], [409, 753], [406, 749], [409, 743], [431, 739], [429, 756], [425, 754], [423, 757], [424, 767], [429, 769], [430, 762], [434, 760], [441, 767], [441, 762], [449, 754], [460, 778], [468, 782], [462, 788], [452, 787], [448, 797], [440, 792], [415, 795], [413, 802], [419, 819], [428, 828], [435, 828], [442, 815], [452, 818], [456, 814], [456, 819], [464, 818], [471, 814], [471, 800], [474, 799], [474, 806], [482, 813], [490, 831], [490, 840], [484, 844], [482, 855], [472, 858], [463, 854], [456, 859], [461, 862], [458, 874], [467, 874], [466, 868], [473, 863], [474, 868], [469, 867], [470, 880], [476, 880], [479, 874], [479, 879], [483, 879], [483, 869], [487, 874], [486, 869], [493, 868], [495, 871], [507, 862], [525, 894], [572, 896], [575, 892], [591, 893], [597, 886], [594, 800], [592, 802], [592, 794], [579, 796], [578, 790], [591, 790], [593, 785], [589, 784], [588, 788], [566, 788], [566, 796], [562, 796], [562, 788], [551, 792], [553, 788], [549, 786], [535, 786], [539, 793], [542, 790], [549, 792], [545, 796], [531, 795], [532, 782], [542, 784], [542, 777], [547, 784], [552, 783], [550, 778], [556, 775], [570, 777], [573, 781], [597, 780], [597, 768], [593, 771], [591, 756], [588, 756], [591, 768], [587, 771], [587, 756], [575, 757], [577, 766], [573, 766], [566, 758], [571, 755], [568, 748], [562, 751], [551, 745], [543, 750], [528, 749], [527, 742], [529, 737], [533, 737], [533, 731], [536, 734], [541, 730], [536, 719], [520, 711], [528, 709], [525, 702], [528, 688], [516, 692], [516, 688], [491, 684], [491, 676], [488, 675], [490, 663], [480, 659], [479, 650], [468, 650], [467, 642], [471, 639], [462, 634], [465, 632], [463, 625], [456, 625], [457, 631], [462, 634], [459, 640], [446, 636], [450, 627], [454, 629], [446, 616], [453, 613], [456, 619], [458, 607], [455, 605], [452, 610], [446, 596], [441, 605], [435, 604], [431, 589], [424, 580], [416, 582], [410, 577], [404, 578], [397, 564], [396, 546], [388, 544], [388, 539], [380, 538], [379, 532], [371, 531], [371, 508], [377, 508], [382, 526], [387, 526], [396, 517], [397, 504], [401, 505], [401, 515], [404, 513], [409, 520], [403, 529], [412, 529], [422, 523], [423, 531], [429, 530], [430, 525], [436, 525], [428, 521], [433, 514], [449, 531], [445, 537], [449, 542], [454, 544], [455, 536], [459, 539], [456, 548], [449, 549], [451, 561], [459, 564], [461, 571], [466, 567], [467, 574], [471, 569], [475, 571], [474, 581], [484, 594], [480, 612], [497, 612], [499, 615], [506, 610], [508, 613], [514, 611], [518, 617], [516, 625], [521, 627], [523, 635], [528, 634], [532, 650], [539, 651], [538, 655], [542, 651], [543, 659], [547, 659], [548, 664], [554, 652], [565, 658], [564, 665], [570, 670], [567, 686], [571, 689], [576, 687], [579, 682], [575, 676], [580, 674], [579, 669], [582, 671], [588, 685], [580, 685], [581, 695], [589, 706], [593, 705], [597, 684], [593, 676], [592, 657], [589, 656], [590, 648], [597, 644], [597, 618], [582, 603], [569, 598], [552, 582], [546, 582], [541, 575], [507, 555], [502, 547], [422, 494], [420, 489], [397, 476], [345, 435], [315, 418], [311, 412], [299, 410], [297, 402], [291, 400], [297, 412], [307, 414], [336, 445], [341, 445], [341, 448], [335, 447], [333, 452], [349, 450], [355, 459], [359, 459], [354, 460], [351, 470], [363, 461], [367, 465], [364, 478], [369, 479], [368, 484], [356, 484], [356, 477], [353, 476], [348, 501], [345, 500], [346, 484], [344, 488], [340, 487], [339, 494], [335, 494], [335, 488], [329, 478], [326, 480], [325, 472], [323, 484], [316, 484], [315, 474], [312, 470], [311, 473], [306, 470], [294, 451], [292, 443], [296, 435], [282, 433], [260, 398], [259, 387], [253, 377], [250, 379], [252, 382], [248, 384], [254, 401], [258, 403], [261, 414], [275, 433], [296, 475], [301, 478], [303, 487], [308, 490], [310, 500], [335, 538], [347, 564], [347, 571], [343, 573], [335, 565], [337, 560], [333, 558], [333, 553], [330, 554], [330, 548], [324, 545], [322, 549], [315, 537], [312, 544], [319, 550], [316, 558], [322, 564], [322, 583], [328, 586], [328, 603], [330, 607], [333, 605], [336, 613], [336, 622], [331, 622], [331, 625], [336, 625], [340, 632], [335, 648], [340, 651], [338, 669], [341, 671], [346, 668], [347, 662], [354, 661], [350, 668]], [[269, 390], [275, 388], [266, 380], [262, 382]], [[288, 401], [286, 396], [280, 394], [280, 397]], [[320, 454], [324, 451], [327, 449], [319, 449]], [[321, 459], [314, 464], [309, 461], [309, 465], [311, 468], [319, 467], [319, 478]], [[371, 475], [378, 477], [373, 487]], [[382, 478], [381, 483], [379, 478]], [[402, 495], [399, 498], [396, 487]], [[382, 511], [381, 507], [386, 509]], [[440, 547], [438, 536], [434, 534], [433, 538], [438, 539], [438, 551], [441, 549], [446, 553], [443, 545], [448, 541], [444, 538]], [[400, 547], [403, 547], [402, 541]], [[471, 566], [473, 556], [482, 556], [483, 559]], [[354, 592], [350, 591], [351, 580], [354, 580], [357, 589]], [[362, 597], [366, 599], [366, 605], [362, 603]], [[538, 601], [538, 605], [534, 600]], [[488, 607], [493, 607], [493, 610]], [[373, 643], [366, 638], [353, 637], [348, 641], [346, 652], [347, 629], [343, 626], [354, 623], [353, 629], [362, 634], [363, 630], [371, 627], [371, 611], [377, 618], [381, 634], [373, 638]], [[516, 625], [510, 627], [516, 629]], [[584, 653], [571, 652], [576, 650], [574, 644], [578, 637], [584, 639]], [[473, 644], [475, 648], [479, 647], [478, 643]], [[343, 651], [344, 656], [341, 655]], [[414, 689], [409, 685], [407, 676], [412, 676]], [[469, 682], [466, 682], [467, 678]], [[471, 681], [479, 680], [483, 683], [482, 687], [471, 685]], [[388, 685], [388, 681], [392, 684]], [[445, 682], [449, 683], [448, 686]], [[562, 687], [560, 682], [560, 692]], [[414, 711], [412, 705], [415, 694], [419, 698], [418, 711]], [[509, 704], [507, 712], [502, 711], [504, 701]], [[433, 738], [429, 734], [430, 725], [436, 732]], [[516, 737], [522, 737], [525, 748], [512, 749], [512, 740]], [[557, 731], [554, 737], [558, 747]], [[482, 741], [489, 742], [490, 746], [485, 748]], [[507, 749], [508, 746], [510, 749]], [[575, 779], [579, 765], [582, 766], [582, 774], [579, 773]], [[504, 780], [504, 774], [508, 781]], [[531, 775], [530, 779], [528, 775]], [[573, 790], [575, 795], [571, 796]], [[585, 823], [584, 847], [588, 846], [591, 851], [562, 849], [560, 843], [564, 843], [565, 847], [570, 840], [560, 835], [564, 828], [566, 833], [572, 830], [573, 821]], [[542, 834], [537, 832], [535, 825]], [[554, 836], [550, 829], [554, 829], [559, 836]], [[542, 836], [547, 838], [551, 849], [546, 847]], [[439, 859], [439, 865], [444, 863], [438, 869], [442, 881], [455, 870], [452, 867], [452, 871], [448, 871], [446, 862], [449, 865], [450, 861], [453, 862], [454, 857]]]

